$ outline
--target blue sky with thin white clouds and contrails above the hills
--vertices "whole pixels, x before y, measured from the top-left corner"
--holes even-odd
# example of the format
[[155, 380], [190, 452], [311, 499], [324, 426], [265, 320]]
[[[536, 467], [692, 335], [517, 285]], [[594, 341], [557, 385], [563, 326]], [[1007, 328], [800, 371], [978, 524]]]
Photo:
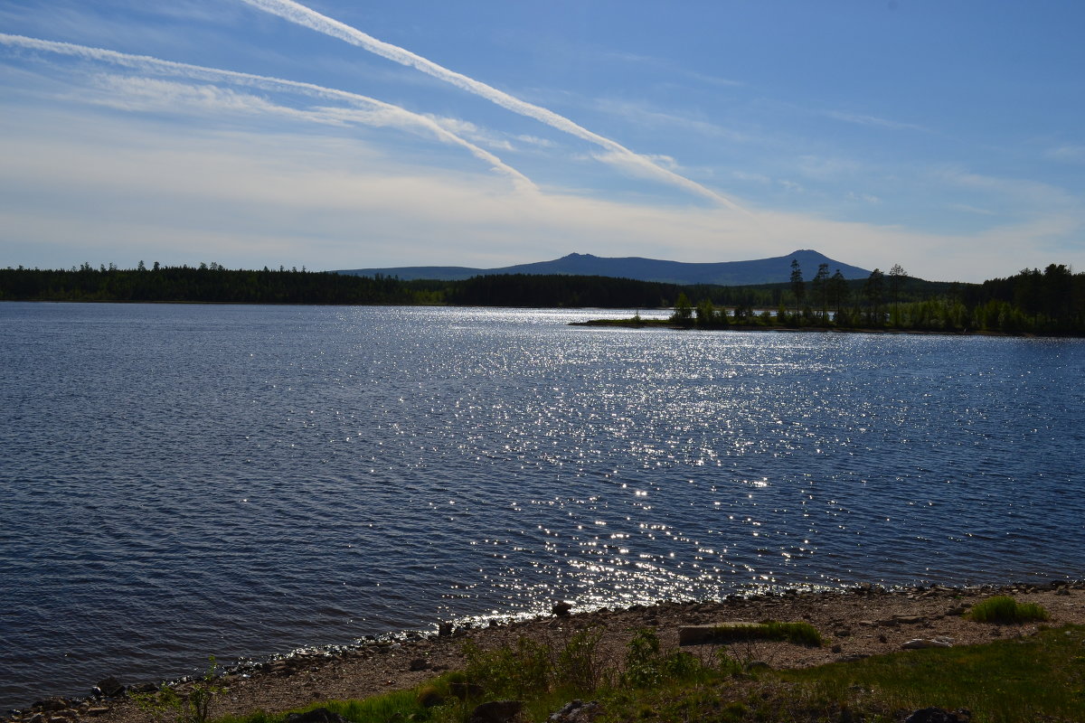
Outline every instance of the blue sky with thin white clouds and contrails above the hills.
[[5, 0], [0, 266], [1085, 270], [1082, 27], [1071, 0]]

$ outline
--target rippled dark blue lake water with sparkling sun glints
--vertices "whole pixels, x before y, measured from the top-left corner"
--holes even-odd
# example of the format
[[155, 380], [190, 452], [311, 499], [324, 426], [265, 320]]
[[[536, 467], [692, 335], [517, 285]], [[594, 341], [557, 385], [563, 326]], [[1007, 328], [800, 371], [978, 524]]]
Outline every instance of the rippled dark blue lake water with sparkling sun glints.
[[1085, 577], [1082, 340], [566, 325], [613, 314], [0, 305], [0, 709], [558, 599]]

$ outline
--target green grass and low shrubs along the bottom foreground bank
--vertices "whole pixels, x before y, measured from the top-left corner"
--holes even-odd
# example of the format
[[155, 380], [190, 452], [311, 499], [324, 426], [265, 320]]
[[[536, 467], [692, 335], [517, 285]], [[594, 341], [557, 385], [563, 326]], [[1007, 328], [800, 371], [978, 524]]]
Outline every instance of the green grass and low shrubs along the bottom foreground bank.
[[[757, 662], [755, 644], [693, 656], [665, 651], [639, 631], [613, 664], [600, 636], [584, 630], [561, 645], [521, 640], [515, 647], [469, 645], [462, 671], [366, 700], [322, 702], [348, 721], [465, 723], [483, 701], [513, 700], [521, 720], [547, 720], [573, 700], [590, 700], [579, 720], [899, 721], [929, 707], [967, 709], [975, 723], [1085, 720], [1085, 628], [1047, 629], [960, 648], [907, 650], [791, 671]], [[587, 713], [585, 711], [582, 714]], [[281, 723], [256, 713], [224, 723]]]

